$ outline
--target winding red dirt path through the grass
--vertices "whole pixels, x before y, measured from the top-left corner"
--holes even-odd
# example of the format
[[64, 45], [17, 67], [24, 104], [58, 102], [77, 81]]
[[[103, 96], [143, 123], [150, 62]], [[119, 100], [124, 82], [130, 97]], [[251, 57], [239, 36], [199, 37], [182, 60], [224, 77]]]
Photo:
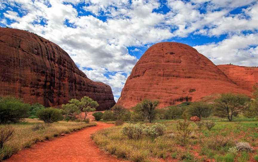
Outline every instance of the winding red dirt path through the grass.
[[110, 126], [112, 124], [98, 123], [97, 126], [37, 143], [14, 154], [5, 162], [119, 162], [114, 156], [99, 150], [90, 138], [94, 132]]

